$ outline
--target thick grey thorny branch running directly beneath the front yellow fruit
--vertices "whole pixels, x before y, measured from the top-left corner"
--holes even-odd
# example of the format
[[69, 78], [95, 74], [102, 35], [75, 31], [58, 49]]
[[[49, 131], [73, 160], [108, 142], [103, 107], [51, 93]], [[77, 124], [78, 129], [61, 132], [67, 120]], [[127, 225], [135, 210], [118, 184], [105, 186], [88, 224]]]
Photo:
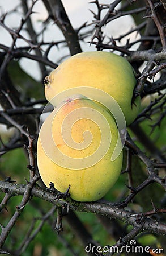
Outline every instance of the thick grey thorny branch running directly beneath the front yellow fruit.
[[[1, 191], [5, 191], [8, 188], [8, 184], [5, 181], [1, 181]], [[18, 184], [10, 184], [10, 189], [8, 190], [12, 196], [15, 195], [24, 195], [25, 193], [25, 185]], [[31, 191], [32, 196], [36, 196], [42, 198], [46, 201], [52, 201], [52, 204], [56, 205], [56, 207], [62, 207], [64, 204], [63, 200], [54, 200], [54, 196], [44, 191], [42, 188], [34, 187]], [[104, 216], [116, 218], [118, 220], [125, 221], [126, 223], [132, 226], [138, 226], [141, 229], [146, 229], [148, 232], [152, 232], [155, 230], [158, 234], [164, 234], [166, 232], [166, 225], [164, 223], [156, 222], [155, 220], [151, 220], [150, 218], [144, 218], [144, 220], [137, 220], [135, 216], [131, 216], [131, 212], [129, 210], [125, 210], [110, 204], [109, 202], [100, 203], [79, 203], [70, 199], [70, 209], [78, 210], [80, 212], [93, 212], [96, 214], [102, 214]]]

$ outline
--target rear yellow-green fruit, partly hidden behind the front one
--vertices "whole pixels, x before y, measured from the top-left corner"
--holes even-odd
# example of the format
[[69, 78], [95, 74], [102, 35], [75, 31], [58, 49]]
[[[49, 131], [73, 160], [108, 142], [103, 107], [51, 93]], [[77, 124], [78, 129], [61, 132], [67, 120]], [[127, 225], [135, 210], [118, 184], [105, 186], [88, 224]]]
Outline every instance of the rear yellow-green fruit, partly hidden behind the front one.
[[136, 85], [133, 68], [124, 57], [114, 53], [78, 53], [61, 63], [45, 81], [45, 96], [48, 101], [66, 89], [90, 86], [104, 90], [117, 101], [127, 125], [138, 115], [140, 97], [131, 104]]

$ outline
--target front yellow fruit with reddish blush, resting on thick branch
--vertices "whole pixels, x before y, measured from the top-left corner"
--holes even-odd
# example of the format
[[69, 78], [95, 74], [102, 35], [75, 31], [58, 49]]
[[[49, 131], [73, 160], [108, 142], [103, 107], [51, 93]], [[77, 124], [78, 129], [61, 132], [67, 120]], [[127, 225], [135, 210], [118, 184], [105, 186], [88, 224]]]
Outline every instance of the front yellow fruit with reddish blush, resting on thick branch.
[[[112, 116], [87, 98], [69, 99], [54, 109], [41, 126], [37, 164], [49, 187], [65, 192], [70, 187], [76, 201], [96, 201], [118, 179], [122, 167], [121, 141]], [[114, 149], [115, 160], [111, 160]]]

